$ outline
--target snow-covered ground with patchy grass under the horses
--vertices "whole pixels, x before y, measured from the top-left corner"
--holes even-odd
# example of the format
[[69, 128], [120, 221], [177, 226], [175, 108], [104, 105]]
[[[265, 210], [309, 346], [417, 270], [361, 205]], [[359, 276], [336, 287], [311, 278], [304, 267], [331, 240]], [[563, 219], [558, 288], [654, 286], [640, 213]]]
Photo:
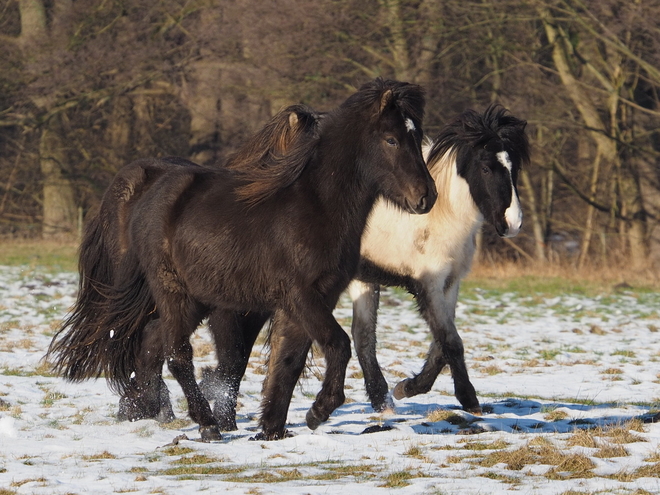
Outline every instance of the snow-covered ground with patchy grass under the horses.
[[[352, 359], [346, 404], [312, 432], [305, 413], [323, 375], [316, 356], [289, 410], [293, 437], [250, 441], [265, 372], [257, 345], [239, 430], [201, 443], [167, 374], [179, 419], [162, 425], [117, 422], [118, 397], [103, 379], [68, 383], [49, 373], [42, 357], [76, 283], [73, 273], [0, 267], [2, 493], [660, 493], [660, 424], [643, 424], [660, 402], [659, 294], [464, 292], [457, 325], [482, 417], [459, 409], [447, 374], [429, 394], [375, 414]], [[348, 298], [335, 315], [348, 330]], [[422, 365], [429, 335], [400, 291], [383, 293], [378, 337], [391, 386]], [[206, 329], [194, 346], [198, 372], [214, 364]], [[594, 432], [593, 445], [575, 440], [579, 429]], [[618, 450], [607, 454], [607, 446]], [[516, 464], [498, 452], [532, 455]]]

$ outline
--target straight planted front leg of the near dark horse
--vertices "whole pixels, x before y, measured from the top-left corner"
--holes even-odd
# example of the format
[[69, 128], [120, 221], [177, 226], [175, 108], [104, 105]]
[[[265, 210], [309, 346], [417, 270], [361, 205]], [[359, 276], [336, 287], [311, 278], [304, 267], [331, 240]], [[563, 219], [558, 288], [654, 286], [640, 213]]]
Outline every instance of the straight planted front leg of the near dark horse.
[[268, 374], [263, 384], [261, 433], [257, 440], [278, 440], [287, 434], [286, 417], [293, 389], [305, 367], [312, 341], [300, 325], [278, 311], [270, 334]]

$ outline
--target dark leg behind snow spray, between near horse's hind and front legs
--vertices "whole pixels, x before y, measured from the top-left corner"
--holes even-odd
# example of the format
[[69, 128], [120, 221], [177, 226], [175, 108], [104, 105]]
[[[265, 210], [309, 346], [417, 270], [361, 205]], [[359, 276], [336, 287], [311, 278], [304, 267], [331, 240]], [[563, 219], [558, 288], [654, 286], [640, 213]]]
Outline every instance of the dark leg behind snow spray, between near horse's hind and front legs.
[[215, 401], [213, 415], [223, 431], [237, 429], [236, 404], [241, 379], [254, 341], [268, 317], [264, 313], [216, 310], [209, 318], [218, 366], [213, 371], [203, 371], [199, 387], [209, 401]]

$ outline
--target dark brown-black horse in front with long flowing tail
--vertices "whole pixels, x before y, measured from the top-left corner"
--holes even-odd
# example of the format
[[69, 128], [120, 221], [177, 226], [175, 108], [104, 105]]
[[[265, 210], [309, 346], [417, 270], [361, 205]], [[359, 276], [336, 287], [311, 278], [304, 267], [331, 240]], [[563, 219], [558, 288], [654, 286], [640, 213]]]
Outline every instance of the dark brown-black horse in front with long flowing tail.
[[[272, 314], [283, 345], [271, 355], [262, 437], [285, 435], [312, 341], [327, 364], [307, 414], [316, 428], [344, 402], [350, 340], [332, 310], [357, 271], [374, 203], [385, 197], [414, 214], [435, 203], [421, 153], [423, 109], [420, 87], [376, 79], [311, 119], [283, 153], [270, 151], [272, 139], [256, 139], [233, 168], [182, 159], [128, 165], [86, 228], [78, 299], [46, 356], [54, 369], [70, 380], [104, 374], [137, 419], [158, 417], [169, 401], [161, 375], [167, 362], [202, 439], [219, 439], [195, 379], [190, 335], [209, 315], [217, 334], [227, 335], [243, 327], [216, 321]], [[275, 120], [288, 121], [290, 131], [309, 119], [286, 112]], [[265, 134], [273, 138], [279, 128], [266, 126]], [[216, 337], [219, 356], [231, 356], [243, 339]]]

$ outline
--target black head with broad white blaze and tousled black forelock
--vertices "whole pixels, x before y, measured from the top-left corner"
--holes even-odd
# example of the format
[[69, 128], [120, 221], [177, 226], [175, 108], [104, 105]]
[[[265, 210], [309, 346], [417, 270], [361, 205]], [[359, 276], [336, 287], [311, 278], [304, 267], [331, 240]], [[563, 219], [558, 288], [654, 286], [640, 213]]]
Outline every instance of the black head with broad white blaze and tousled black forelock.
[[514, 237], [522, 227], [517, 183], [520, 169], [529, 163], [526, 124], [491, 105], [483, 114], [462, 113], [436, 141], [453, 149], [458, 175], [467, 181], [477, 208], [500, 237]]

